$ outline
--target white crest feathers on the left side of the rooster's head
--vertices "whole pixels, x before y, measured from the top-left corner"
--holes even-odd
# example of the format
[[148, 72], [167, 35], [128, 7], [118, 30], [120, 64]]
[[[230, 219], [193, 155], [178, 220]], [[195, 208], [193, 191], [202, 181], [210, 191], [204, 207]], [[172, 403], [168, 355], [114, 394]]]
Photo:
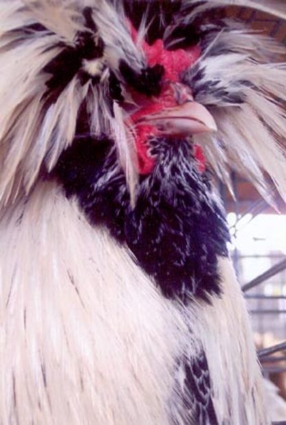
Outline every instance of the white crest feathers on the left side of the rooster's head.
[[[123, 18], [109, 2], [1, 0], [0, 3], [0, 204], [5, 204], [15, 199], [19, 190], [28, 193], [43, 165], [52, 171], [58, 157], [74, 140], [83, 101], [87, 102], [91, 116], [91, 135], [110, 132], [114, 119], [106, 98], [109, 69], [118, 74], [122, 59], [127, 62], [132, 59], [139, 69], [143, 59]], [[75, 76], [57, 98], [47, 102], [50, 96], [47, 82], [51, 75], [43, 70], [65, 46], [74, 48], [76, 34], [89, 31], [84, 25], [85, 6], [94, 7], [93, 19], [106, 49], [103, 58], [83, 61], [82, 68], [91, 77], [100, 78], [102, 73], [100, 85], [83, 85]], [[33, 25], [42, 28], [38, 31]], [[65, 69], [61, 72], [64, 74]], [[127, 183], [134, 193], [137, 171], [135, 162], [131, 164], [133, 144], [121, 136], [116, 141]]]

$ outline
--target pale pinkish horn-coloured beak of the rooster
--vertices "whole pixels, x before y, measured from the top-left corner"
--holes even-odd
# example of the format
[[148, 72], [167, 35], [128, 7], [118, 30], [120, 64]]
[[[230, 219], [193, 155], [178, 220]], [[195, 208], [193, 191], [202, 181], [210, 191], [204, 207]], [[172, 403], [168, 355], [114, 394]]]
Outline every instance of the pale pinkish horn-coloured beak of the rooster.
[[195, 135], [217, 131], [217, 124], [208, 109], [190, 100], [183, 105], [153, 113], [144, 121], [155, 125], [162, 133], [173, 135]]

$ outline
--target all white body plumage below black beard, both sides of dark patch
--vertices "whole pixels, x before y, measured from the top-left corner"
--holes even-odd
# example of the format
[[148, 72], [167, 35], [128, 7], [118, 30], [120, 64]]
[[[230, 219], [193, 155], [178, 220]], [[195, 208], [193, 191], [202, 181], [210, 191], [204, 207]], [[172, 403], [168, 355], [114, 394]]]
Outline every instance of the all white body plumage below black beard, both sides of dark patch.
[[[173, 391], [177, 359], [201, 347], [219, 424], [269, 424], [229, 259], [220, 260], [223, 294], [212, 305], [170, 301], [124, 246], [45, 182], [2, 214], [0, 261], [3, 424], [186, 424]], [[184, 386], [186, 371], [177, 373]]]

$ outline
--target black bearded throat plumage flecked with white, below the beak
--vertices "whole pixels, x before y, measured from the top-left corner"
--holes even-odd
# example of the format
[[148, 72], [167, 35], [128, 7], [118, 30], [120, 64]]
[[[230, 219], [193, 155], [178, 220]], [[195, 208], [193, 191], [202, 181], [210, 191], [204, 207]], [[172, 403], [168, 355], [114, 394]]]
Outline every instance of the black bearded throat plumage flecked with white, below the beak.
[[55, 173], [67, 197], [75, 195], [91, 224], [128, 246], [164, 296], [210, 301], [221, 293], [217, 263], [228, 256], [229, 233], [209, 173], [199, 173], [187, 140], [157, 138], [150, 146], [155, 167], [140, 178], [134, 208], [107, 138], [76, 140]]

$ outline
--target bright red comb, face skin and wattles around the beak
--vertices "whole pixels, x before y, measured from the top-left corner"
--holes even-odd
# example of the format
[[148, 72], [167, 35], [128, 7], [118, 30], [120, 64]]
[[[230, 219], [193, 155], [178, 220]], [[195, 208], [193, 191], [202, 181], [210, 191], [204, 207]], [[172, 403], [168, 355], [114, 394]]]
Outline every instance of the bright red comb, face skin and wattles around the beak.
[[[131, 28], [133, 39], [137, 39], [137, 32]], [[186, 69], [191, 67], [199, 58], [201, 48], [197, 45], [188, 50], [166, 50], [164, 42], [158, 39], [153, 45], [148, 45], [145, 41], [142, 43], [147, 63], [150, 67], [162, 65], [164, 67], [164, 77], [162, 81], [162, 91], [157, 98], [146, 98], [145, 96], [136, 96], [138, 105], [142, 105], [138, 111], [131, 115], [131, 122], [135, 124], [135, 142], [138, 155], [139, 173], [148, 175], [152, 172], [155, 160], [148, 155], [148, 138], [159, 135], [160, 131], [152, 124], [146, 124], [144, 118], [152, 113], [161, 112], [165, 109], [176, 107], [178, 105], [175, 98], [174, 87], [180, 88], [180, 95], [191, 96], [190, 90], [179, 83], [179, 76]], [[181, 98], [184, 101], [183, 98]], [[142, 122], [140, 122], [142, 120]], [[198, 162], [199, 171], [203, 173], [206, 169], [203, 151], [199, 146], [195, 146], [195, 157]]]

